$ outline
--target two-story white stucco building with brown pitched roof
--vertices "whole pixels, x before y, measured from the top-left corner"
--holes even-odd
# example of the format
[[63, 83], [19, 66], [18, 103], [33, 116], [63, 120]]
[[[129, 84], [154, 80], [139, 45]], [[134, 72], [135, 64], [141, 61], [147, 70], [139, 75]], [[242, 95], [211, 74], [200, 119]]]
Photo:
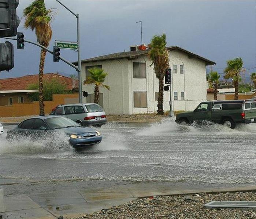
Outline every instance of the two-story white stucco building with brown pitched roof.
[[[193, 110], [207, 100], [206, 66], [216, 64], [178, 46], [167, 47], [172, 69], [172, 109]], [[157, 111], [159, 82], [147, 54], [149, 50], [136, 50], [82, 60], [82, 81], [88, 77], [89, 68], [103, 68], [108, 76], [105, 84], [111, 90], [100, 88], [100, 105], [106, 114], [139, 114]], [[74, 63], [77, 65], [77, 62]], [[88, 97], [94, 100], [94, 86], [83, 85]], [[164, 91], [164, 111], [170, 110], [170, 92]]]

